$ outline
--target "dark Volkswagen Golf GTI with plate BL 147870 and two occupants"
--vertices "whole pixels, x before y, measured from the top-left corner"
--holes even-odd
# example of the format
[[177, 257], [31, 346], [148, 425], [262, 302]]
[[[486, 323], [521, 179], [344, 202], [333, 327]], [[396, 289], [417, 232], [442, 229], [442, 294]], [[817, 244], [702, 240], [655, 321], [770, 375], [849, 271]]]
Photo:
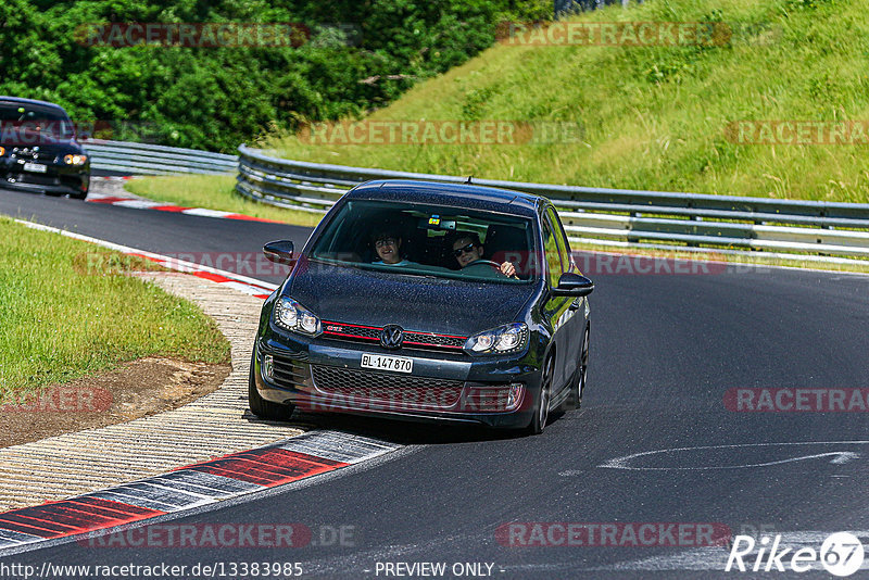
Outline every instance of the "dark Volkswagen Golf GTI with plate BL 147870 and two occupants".
[[[292, 242], [264, 252], [290, 263]], [[581, 401], [593, 288], [545, 198], [423, 181], [357, 186], [263, 306], [251, 411], [539, 433], [551, 409]]]

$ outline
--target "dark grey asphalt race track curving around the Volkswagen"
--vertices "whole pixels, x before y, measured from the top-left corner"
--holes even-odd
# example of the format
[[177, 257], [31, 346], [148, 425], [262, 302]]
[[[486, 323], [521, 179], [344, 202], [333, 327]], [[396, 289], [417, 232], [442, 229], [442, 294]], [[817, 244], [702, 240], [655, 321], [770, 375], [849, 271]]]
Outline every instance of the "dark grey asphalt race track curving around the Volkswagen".
[[[0, 191], [0, 213], [162, 253], [259, 253], [278, 238], [301, 248], [308, 234], [7, 191]], [[588, 260], [578, 259], [580, 265]], [[658, 542], [664, 545], [634, 545], [624, 530], [708, 525], [703, 529], [733, 535], [781, 534], [793, 550], [820, 550], [829, 534], [852, 531], [869, 546], [866, 408], [752, 413], [736, 411], [735, 391], [728, 394], [869, 389], [869, 277], [732, 266], [639, 274], [613, 266], [592, 260], [585, 268], [596, 290], [582, 408], [551, 420], [543, 436], [310, 417], [407, 446], [335, 477], [171, 521], [302, 524], [313, 533], [306, 545], [67, 542], [9, 555], [0, 564], [39, 569], [43, 563], [166, 563], [188, 566], [185, 578], [205, 576], [190, 572], [197, 564], [218, 564], [224, 577], [242, 577], [229, 575], [228, 565], [254, 562], [300, 563], [301, 576], [315, 578], [388, 578], [411, 570], [399, 563], [417, 565], [405, 577], [437, 570], [419, 568], [421, 563], [443, 563], [445, 578], [784, 578], [805, 575], [790, 568], [726, 572], [728, 546], [678, 534], [681, 545], [667, 543], [666, 534]], [[277, 275], [259, 277], [280, 281]], [[846, 404], [853, 392], [866, 402], [867, 391], [847, 391]], [[593, 545], [542, 545], [565, 544], [558, 525], [569, 522], [595, 524], [587, 529], [601, 533], [583, 537], [583, 544]], [[618, 534], [606, 540], [602, 531], [615, 524]], [[746, 566], [755, 555], [756, 550], [746, 556]], [[868, 569], [864, 564], [854, 577], [869, 576]], [[829, 577], [822, 570], [808, 577], [821, 573]]]

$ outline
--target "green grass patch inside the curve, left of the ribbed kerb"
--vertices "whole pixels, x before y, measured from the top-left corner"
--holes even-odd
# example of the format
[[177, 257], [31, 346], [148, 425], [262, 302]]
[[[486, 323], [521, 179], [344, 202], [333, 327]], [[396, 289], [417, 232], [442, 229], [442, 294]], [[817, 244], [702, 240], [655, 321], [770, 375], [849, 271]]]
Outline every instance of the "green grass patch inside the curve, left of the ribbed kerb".
[[148, 355], [228, 362], [198, 306], [123, 274], [150, 268], [0, 217], [0, 401]]

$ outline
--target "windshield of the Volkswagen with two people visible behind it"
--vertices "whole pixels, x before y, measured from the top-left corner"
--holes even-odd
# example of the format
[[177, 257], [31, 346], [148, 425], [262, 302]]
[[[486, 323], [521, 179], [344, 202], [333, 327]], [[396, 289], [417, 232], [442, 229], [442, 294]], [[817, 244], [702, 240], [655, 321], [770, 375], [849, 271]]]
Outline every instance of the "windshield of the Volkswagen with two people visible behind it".
[[347, 267], [524, 283], [538, 268], [533, 222], [465, 209], [353, 200], [308, 256]]

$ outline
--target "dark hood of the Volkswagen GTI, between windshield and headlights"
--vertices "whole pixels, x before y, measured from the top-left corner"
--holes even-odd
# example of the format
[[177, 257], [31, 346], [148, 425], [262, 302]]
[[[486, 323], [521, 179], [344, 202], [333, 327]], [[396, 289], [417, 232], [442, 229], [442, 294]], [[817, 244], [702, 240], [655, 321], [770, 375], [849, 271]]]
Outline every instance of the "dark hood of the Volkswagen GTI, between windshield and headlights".
[[325, 266], [300, 260], [282, 294], [323, 320], [470, 336], [525, 320], [533, 283], [492, 283]]

